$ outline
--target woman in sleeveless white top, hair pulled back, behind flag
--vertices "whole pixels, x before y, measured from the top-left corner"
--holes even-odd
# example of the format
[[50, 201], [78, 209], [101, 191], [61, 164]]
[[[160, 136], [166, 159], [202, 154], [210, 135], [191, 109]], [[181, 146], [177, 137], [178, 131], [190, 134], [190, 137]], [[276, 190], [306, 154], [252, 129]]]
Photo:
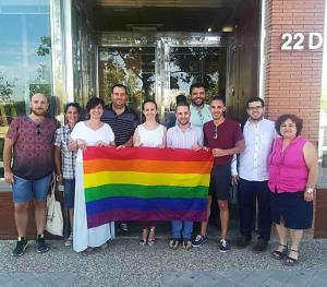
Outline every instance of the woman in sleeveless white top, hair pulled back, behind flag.
[[[145, 100], [143, 103], [143, 115], [145, 121], [137, 125], [133, 143], [135, 147], [165, 147], [166, 146], [166, 133], [167, 129], [159, 124], [157, 121], [157, 104], [154, 100]], [[155, 222], [142, 222], [142, 238], [140, 243], [145, 246], [148, 243], [153, 246], [156, 237], [156, 223]]]

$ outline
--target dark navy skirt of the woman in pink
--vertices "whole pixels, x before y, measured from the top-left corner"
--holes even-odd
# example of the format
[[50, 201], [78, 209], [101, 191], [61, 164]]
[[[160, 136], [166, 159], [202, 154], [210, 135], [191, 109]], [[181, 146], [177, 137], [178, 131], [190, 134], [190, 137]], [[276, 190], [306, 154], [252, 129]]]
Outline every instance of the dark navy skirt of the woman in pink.
[[308, 229], [313, 220], [313, 202], [304, 201], [304, 191], [271, 192], [270, 211], [272, 222], [290, 229]]

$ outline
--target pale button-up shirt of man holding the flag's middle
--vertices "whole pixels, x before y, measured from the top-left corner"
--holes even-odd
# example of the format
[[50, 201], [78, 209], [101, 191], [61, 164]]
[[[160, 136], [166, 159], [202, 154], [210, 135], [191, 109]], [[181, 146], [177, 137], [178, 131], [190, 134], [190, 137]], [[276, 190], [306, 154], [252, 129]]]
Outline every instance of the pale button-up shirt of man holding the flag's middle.
[[193, 145], [203, 146], [203, 130], [190, 127], [182, 131], [179, 125], [174, 125], [167, 131], [167, 147], [191, 148]]

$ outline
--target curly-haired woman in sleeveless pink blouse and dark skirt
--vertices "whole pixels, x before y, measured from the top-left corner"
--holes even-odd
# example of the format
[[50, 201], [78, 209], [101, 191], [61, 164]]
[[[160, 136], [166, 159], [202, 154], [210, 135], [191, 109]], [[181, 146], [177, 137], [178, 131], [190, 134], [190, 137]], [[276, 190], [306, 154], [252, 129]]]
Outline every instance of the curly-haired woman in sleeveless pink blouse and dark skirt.
[[282, 115], [276, 122], [276, 130], [281, 137], [275, 142], [269, 157], [268, 182], [271, 217], [279, 238], [279, 246], [272, 256], [278, 260], [286, 258], [286, 265], [294, 265], [298, 263], [303, 230], [312, 227], [318, 160], [314, 145], [300, 135], [300, 118]]

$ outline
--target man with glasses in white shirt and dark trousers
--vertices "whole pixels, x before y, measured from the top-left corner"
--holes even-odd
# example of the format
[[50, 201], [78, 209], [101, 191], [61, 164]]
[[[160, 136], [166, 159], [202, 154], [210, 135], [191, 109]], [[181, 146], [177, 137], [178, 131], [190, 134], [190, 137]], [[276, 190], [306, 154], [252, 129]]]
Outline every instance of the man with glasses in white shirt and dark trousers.
[[275, 122], [264, 119], [265, 105], [259, 97], [247, 100], [249, 119], [243, 128], [245, 151], [239, 156], [239, 207], [240, 231], [239, 248], [250, 244], [253, 223], [258, 204], [259, 237], [253, 251], [267, 249], [270, 240], [270, 192], [268, 189], [268, 156], [277, 137]]

